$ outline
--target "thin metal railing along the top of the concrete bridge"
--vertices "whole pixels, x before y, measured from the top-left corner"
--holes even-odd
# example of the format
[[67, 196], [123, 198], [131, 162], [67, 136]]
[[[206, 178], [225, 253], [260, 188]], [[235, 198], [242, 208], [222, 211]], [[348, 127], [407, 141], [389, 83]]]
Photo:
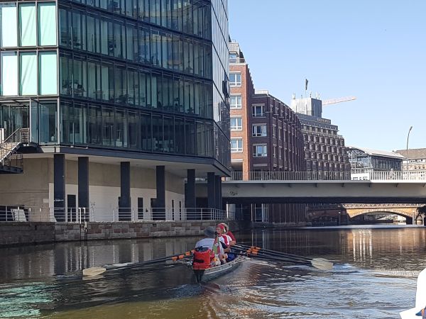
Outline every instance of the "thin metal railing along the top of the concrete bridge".
[[231, 172], [231, 177], [227, 181], [309, 181], [309, 180], [368, 180], [368, 181], [388, 181], [388, 180], [426, 180], [426, 170], [418, 171], [372, 171], [370, 169], [352, 169], [349, 172], [248, 172], [246, 177], [242, 172]]

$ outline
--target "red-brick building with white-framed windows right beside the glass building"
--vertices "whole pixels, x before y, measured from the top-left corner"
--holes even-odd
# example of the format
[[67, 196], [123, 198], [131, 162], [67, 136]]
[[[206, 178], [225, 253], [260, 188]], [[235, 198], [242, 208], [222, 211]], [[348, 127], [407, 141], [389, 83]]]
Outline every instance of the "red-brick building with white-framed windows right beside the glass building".
[[[268, 91], [256, 91], [239, 43], [229, 43], [231, 86], [231, 167], [238, 179], [256, 172], [305, 171], [302, 125], [295, 112]], [[255, 222], [305, 223], [305, 205], [277, 204], [251, 208]]]

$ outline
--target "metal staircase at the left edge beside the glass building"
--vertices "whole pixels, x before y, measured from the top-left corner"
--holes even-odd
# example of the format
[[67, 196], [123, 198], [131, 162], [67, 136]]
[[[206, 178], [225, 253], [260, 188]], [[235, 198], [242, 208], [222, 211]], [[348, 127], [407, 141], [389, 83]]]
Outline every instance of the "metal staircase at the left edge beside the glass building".
[[23, 155], [19, 147], [30, 142], [29, 128], [18, 128], [9, 138], [0, 142], [0, 174], [21, 174]]

